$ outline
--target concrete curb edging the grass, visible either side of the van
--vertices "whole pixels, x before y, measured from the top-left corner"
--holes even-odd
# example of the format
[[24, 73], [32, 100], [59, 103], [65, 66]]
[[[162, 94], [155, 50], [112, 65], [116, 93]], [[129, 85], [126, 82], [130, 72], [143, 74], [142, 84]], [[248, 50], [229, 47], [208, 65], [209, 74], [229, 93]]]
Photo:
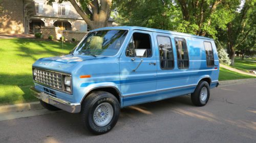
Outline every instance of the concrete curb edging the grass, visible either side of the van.
[[[253, 82], [256, 82], [256, 78], [219, 81], [220, 83], [219, 87], [225, 87], [228, 85], [236, 85], [236, 84], [243, 84], [243, 83], [253, 83]], [[0, 113], [12, 112], [12, 111], [38, 110], [43, 108], [44, 107], [41, 106], [40, 102], [21, 103], [21, 104], [0, 106]]]

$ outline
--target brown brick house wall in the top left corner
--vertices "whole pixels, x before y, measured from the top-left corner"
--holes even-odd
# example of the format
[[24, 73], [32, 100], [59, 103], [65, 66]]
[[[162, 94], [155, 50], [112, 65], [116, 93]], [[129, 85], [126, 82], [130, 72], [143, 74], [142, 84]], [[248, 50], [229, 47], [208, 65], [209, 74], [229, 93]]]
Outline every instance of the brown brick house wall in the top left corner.
[[21, 34], [24, 33], [23, 26], [23, 1], [2, 0], [0, 6], [0, 33]]

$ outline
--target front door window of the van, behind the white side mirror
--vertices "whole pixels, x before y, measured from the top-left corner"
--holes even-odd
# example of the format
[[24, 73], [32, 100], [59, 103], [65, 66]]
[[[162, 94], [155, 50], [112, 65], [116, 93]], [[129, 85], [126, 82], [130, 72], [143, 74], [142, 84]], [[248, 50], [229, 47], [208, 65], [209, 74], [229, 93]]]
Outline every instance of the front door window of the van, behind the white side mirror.
[[125, 55], [135, 57], [135, 49], [143, 49], [145, 52], [142, 57], [150, 58], [152, 56], [150, 35], [144, 33], [134, 33], [126, 48]]

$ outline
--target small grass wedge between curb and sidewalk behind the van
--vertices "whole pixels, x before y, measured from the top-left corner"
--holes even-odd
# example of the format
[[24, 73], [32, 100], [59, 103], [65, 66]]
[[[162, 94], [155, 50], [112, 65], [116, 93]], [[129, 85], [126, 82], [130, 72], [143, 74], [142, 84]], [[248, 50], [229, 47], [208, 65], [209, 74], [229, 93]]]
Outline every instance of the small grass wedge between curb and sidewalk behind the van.
[[233, 79], [245, 79], [245, 78], [255, 78], [254, 76], [249, 76], [245, 74], [240, 74], [237, 72], [233, 72], [230, 70], [227, 70], [225, 68], [220, 68], [220, 75], [219, 80], [233, 80]]

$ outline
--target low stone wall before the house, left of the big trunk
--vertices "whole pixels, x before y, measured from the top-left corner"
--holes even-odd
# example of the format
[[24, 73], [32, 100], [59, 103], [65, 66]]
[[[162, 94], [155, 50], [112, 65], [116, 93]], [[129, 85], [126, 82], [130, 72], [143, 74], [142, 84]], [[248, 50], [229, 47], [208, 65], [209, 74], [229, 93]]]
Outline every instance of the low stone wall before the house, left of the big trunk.
[[58, 27], [54, 26], [45, 26], [42, 27], [42, 38], [48, 39], [50, 35], [54, 37], [54, 40], [59, 40], [61, 35], [65, 37], [65, 40], [72, 40], [75, 38], [77, 41], [80, 41], [88, 32], [79, 32], [79, 31], [60, 31]]

